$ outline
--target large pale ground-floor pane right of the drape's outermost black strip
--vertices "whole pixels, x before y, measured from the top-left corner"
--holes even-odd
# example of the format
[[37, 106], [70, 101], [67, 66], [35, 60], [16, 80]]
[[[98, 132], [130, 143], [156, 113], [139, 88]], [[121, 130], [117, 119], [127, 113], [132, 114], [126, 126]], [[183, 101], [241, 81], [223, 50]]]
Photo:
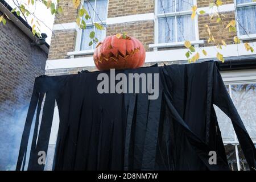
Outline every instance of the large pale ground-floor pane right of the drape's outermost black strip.
[[232, 85], [232, 100], [252, 140], [256, 140], [256, 83]]

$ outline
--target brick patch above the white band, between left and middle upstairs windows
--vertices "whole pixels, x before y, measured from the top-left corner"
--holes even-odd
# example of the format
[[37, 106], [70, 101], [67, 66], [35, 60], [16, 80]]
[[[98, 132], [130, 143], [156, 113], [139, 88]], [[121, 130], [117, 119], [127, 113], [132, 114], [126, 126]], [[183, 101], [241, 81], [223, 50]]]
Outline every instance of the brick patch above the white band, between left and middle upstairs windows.
[[154, 0], [109, 0], [108, 18], [154, 13]]

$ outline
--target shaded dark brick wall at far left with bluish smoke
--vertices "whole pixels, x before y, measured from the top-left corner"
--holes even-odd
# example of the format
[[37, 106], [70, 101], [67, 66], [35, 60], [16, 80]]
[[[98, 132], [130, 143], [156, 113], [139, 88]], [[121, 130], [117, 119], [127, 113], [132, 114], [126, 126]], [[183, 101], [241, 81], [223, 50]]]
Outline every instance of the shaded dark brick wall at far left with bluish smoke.
[[22, 134], [35, 77], [44, 75], [47, 60], [42, 49], [6, 21], [0, 23], [0, 170], [14, 169], [21, 137], [15, 135]]

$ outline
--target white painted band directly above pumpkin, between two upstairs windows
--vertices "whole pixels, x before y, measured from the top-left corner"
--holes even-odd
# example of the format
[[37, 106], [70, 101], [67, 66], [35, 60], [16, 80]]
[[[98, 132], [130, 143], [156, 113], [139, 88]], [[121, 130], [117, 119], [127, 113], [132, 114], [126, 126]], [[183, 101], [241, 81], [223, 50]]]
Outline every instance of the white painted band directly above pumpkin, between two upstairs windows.
[[106, 24], [117, 24], [117, 23], [127, 23], [127, 22], [138, 22], [145, 20], [154, 20], [154, 13], [128, 15], [128, 16], [118, 16], [115, 18], [108, 18]]

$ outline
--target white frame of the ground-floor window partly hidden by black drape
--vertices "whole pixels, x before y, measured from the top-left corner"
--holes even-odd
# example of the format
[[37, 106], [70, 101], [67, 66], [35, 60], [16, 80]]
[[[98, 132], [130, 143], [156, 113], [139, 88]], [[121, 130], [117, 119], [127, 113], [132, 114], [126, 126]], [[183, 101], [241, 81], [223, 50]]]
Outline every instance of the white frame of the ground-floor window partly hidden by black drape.
[[[235, 0], [236, 1], [236, 0]], [[232, 98], [232, 89], [231, 85], [236, 84], [252, 84], [256, 83], [256, 69], [252, 70], [240, 70], [240, 71], [226, 71], [221, 72], [221, 77], [224, 80], [225, 85], [229, 85], [229, 95]], [[237, 139], [237, 135], [234, 132], [234, 139], [235, 140], [226, 140], [223, 141], [224, 146], [227, 144], [232, 144], [235, 146], [236, 151], [236, 160], [237, 160], [237, 170], [240, 171], [240, 160], [238, 154], [238, 145], [240, 144]], [[256, 140], [253, 140], [254, 145], [256, 145]]]

